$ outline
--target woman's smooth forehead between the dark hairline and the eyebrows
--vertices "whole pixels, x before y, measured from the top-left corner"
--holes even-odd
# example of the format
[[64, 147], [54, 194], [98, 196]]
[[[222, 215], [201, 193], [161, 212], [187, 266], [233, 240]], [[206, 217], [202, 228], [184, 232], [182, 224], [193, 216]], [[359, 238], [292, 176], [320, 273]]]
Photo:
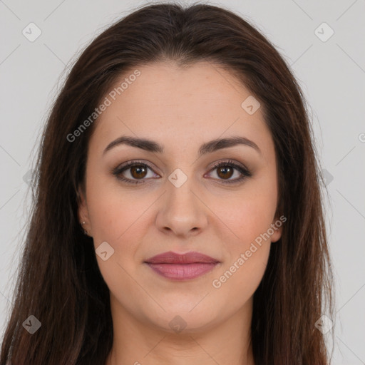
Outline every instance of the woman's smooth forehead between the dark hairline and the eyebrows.
[[242, 108], [250, 91], [232, 73], [207, 61], [186, 68], [159, 62], [130, 69], [104, 97], [110, 105], [96, 121], [92, 139], [105, 143], [120, 135], [175, 147], [226, 135], [270, 143], [261, 108], [252, 115]]

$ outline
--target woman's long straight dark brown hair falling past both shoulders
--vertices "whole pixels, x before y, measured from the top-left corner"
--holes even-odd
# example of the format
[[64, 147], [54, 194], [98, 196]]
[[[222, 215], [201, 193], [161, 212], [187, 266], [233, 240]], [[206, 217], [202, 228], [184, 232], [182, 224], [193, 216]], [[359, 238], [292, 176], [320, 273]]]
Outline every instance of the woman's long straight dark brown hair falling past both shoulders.
[[[278, 215], [287, 217], [254, 295], [256, 365], [329, 364], [315, 327], [333, 313], [321, 172], [304, 96], [272, 44], [232, 11], [208, 4], [153, 4], [103, 31], [78, 58], [43, 133], [14, 306], [0, 365], [105, 364], [113, 342], [109, 291], [91, 237], [78, 222], [88, 140], [73, 133], [128, 70], [153, 61], [210, 61], [262, 103], [278, 161]], [[41, 328], [29, 334], [34, 315]]]

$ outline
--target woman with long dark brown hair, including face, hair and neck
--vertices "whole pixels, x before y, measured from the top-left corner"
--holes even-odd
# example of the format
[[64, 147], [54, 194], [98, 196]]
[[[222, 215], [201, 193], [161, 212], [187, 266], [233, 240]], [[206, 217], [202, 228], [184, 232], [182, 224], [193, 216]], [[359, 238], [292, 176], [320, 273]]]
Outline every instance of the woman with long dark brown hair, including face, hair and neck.
[[37, 166], [0, 365], [329, 364], [312, 129], [247, 21], [158, 4], [110, 26]]

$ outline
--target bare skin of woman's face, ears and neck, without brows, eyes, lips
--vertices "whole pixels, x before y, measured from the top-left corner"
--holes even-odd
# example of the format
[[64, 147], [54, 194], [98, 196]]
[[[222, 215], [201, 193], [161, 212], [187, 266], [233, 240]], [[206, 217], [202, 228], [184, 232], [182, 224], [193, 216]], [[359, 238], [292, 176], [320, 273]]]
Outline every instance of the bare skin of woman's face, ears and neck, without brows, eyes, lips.
[[[165, 61], [138, 70], [140, 76], [96, 122], [79, 206], [95, 248], [108, 242], [114, 250], [106, 261], [96, 255], [113, 317], [113, 349], [106, 365], [253, 365], [252, 297], [282, 228], [256, 245], [258, 250], [219, 288], [212, 281], [279, 219], [274, 216], [277, 160], [262, 108], [249, 115], [241, 104], [250, 91], [207, 61], [189, 68]], [[116, 145], [103, 154], [122, 135], [154, 140], [164, 152]], [[260, 152], [235, 145], [197, 158], [202, 143], [233, 135], [252, 140]], [[229, 159], [252, 176], [224, 183], [241, 176], [238, 170], [233, 175], [212, 170], [214, 163]], [[123, 183], [110, 172], [131, 160], [150, 168], [140, 175], [127, 168], [122, 175], [144, 183]], [[180, 187], [168, 180], [177, 168], [187, 176]], [[166, 251], [202, 252], [220, 264], [201, 277], [176, 282], [144, 263]], [[174, 331], [172, 320], [186, 327]]]

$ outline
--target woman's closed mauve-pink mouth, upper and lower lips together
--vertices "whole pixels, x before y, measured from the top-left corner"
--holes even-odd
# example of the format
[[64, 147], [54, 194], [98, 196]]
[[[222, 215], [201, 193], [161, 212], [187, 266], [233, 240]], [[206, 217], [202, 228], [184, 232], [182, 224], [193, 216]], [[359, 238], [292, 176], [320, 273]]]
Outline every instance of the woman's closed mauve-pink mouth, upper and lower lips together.
[[220, 261], [200, 252], [180, 255], [169, 251], [150, 257], [145, 263], [154, 272], [168, 279], [188, 280], [210, 272]]

